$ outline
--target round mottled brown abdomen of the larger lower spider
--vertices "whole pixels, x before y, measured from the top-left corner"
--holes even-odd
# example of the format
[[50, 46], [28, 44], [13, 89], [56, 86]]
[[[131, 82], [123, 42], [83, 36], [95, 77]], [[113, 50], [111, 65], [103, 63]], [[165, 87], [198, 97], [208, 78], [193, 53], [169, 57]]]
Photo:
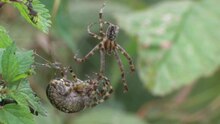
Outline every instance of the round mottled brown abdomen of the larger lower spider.
[[71, 90], [72, 82], [54, 79], [47, 86], [46, 94], [51, 104], [66, 113], [74, 113], [85, 108], [88, 97]]

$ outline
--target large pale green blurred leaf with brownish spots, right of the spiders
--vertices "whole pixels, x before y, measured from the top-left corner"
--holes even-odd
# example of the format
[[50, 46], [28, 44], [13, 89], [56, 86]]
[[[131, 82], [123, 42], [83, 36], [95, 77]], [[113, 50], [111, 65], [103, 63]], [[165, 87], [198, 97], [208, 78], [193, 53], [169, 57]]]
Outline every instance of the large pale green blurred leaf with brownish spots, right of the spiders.
[[210, 75], [220, 65], [220, 9], [217, 0], [167, 1], [118, 16], [138, 37], [138, 71], [155, 95], [165, 95]]

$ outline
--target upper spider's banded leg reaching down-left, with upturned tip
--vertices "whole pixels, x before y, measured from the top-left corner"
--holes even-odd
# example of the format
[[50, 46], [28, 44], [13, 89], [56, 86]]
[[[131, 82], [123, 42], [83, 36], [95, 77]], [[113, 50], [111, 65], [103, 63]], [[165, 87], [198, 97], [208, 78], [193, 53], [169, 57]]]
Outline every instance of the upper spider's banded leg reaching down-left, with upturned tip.
[[75, 61], [77, 61], [78, 63], [85, 62], [90, 56], [93, 56], [94, 53], [95, 53], [98, 49], [100, 49], [100, 47], [101, 47], [101, 45], [98, 44], [98, 45], [96, 45], [85, 57], [83, 57], [83, 58], [77, 58], [76, 56], [74, 56], [73, 59], [74, 59]]

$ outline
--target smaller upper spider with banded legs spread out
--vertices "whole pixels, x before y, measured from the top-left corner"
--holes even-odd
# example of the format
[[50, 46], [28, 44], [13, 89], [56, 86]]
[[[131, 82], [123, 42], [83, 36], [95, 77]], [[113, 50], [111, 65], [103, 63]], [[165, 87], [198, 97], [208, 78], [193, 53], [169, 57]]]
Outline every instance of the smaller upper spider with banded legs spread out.
[[[119, 52], [125, 56], [125, 58], [128, 60], [128, 63], [130, 65], [130, 70], [131, 72], [135, 71], [135, 66], [133, 64], [132, 58], [130, 55], [126, 52], [124, 48], [122, 48], [117, 42], [116, 42], [116, 37], [119, 32], [119, 26], [112, 24], [110, 22], [104, 21], [103, 20], [103, 9], [105, 7], [105, 3], [102, 5], [100, 11], [99, 11], [99, 26], [100, 26], [100, 31], [99, 35], [91, 32], [90, 28], [96, 24], [96, 23], [91, 23], [88, 25], [88, 33], [92, 37], [98, 39], [100, 42], [83, 58], [78, 58], [76, 55], [74, 56], [74, 60], [77, 61], [78, 63], [85, 62], [89, 57], [93, 56], [96, 51], [99, 50], [100, 52], [100, 75], [104, 73], [104, 68], [105, 68], [105, 54], [108, 55], [114, 55], [115, 59], [117, 60], [117, 63], [119, 65], [119, 69], [121, 71], [121, 78], [122, 78], [122, 83], [124, 86], [124, 92], [128, 91], [128, 86], [125, 80], [125, 71], [124, 67], [122, 64], [122, 61], [119, 57]], [[106, 32], [104, 33], [103, 31], [103, 25], [108, 25]]]

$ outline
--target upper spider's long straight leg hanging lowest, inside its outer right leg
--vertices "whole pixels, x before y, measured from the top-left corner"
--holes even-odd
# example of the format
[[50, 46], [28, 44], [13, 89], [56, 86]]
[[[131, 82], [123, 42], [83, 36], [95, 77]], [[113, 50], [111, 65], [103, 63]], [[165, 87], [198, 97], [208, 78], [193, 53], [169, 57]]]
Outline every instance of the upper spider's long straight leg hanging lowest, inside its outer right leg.
[[122, 78], [122, 83], [124, 85], [124, 92], [127, 92], [128, 91], [128, 85], [127, 85], [126, 80], [125, 80], [124, 66], [121, 62], [121, 59], [120, 59], [119, 54], [118, 54], [117, 51], [114, 51], [114, 55], [115, 55], [115, 58], [118, 62], [118, 65], [119, 65], [119, 68], [120, 68], [120, 71], [121, 71], [121, 78]]

